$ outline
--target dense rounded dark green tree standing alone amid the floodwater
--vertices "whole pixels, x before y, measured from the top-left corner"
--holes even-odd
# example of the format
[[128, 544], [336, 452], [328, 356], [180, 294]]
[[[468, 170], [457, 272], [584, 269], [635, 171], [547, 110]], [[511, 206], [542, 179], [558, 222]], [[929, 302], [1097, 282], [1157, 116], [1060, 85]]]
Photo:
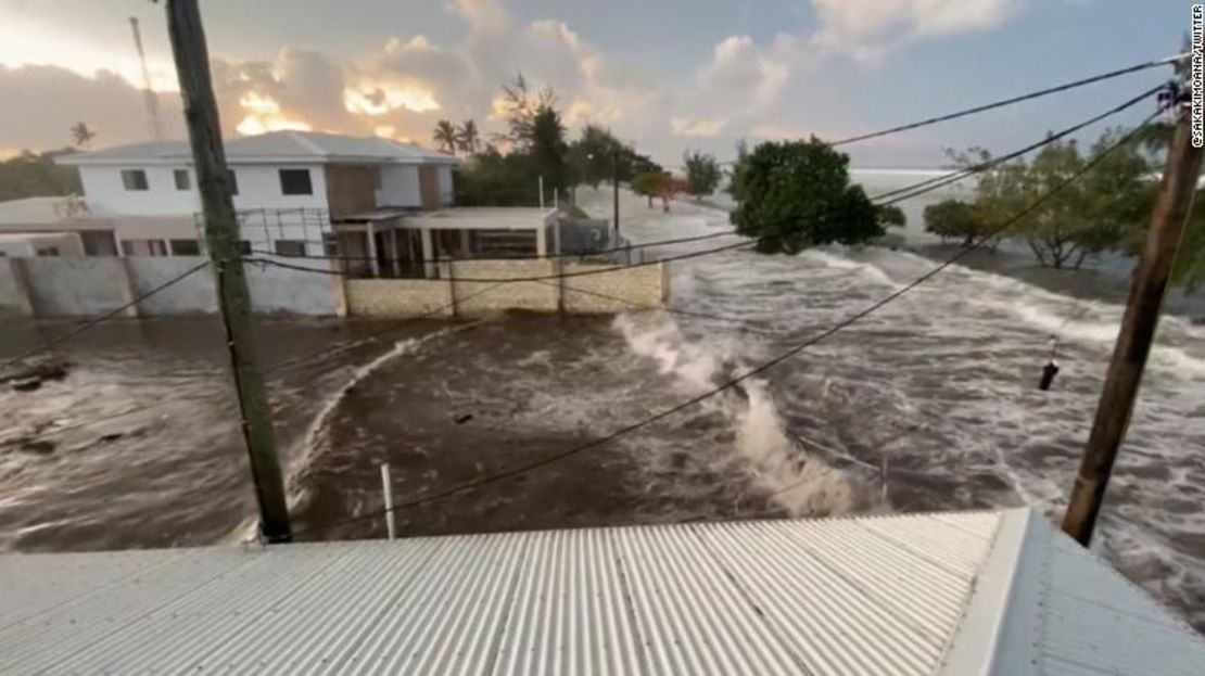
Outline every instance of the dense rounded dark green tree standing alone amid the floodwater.
[[886, 234], [875, 205], [860, 186], [850, 183], [848, 155], [815, 136], [757, 146], [739, 181], [731, 221], [737, 233], [758, 239], [758, 251], [798, 253]]

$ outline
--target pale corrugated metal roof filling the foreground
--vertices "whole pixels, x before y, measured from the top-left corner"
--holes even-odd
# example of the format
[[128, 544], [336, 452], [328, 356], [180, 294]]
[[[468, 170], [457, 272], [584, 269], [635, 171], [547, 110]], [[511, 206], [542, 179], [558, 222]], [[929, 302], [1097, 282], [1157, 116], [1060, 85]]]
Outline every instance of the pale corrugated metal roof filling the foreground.
[[1199, 674], [1027, 510], [0, 557], [0, 672]]

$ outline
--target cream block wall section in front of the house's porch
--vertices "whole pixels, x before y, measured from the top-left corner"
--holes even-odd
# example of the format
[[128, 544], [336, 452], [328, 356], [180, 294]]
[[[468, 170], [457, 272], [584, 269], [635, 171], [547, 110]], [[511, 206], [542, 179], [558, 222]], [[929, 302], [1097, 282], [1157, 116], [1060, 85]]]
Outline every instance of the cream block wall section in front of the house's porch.
[[[565, 272], [612, 270], [574, 263]], [[347, 313], [365, 317], [476, 316], [502, 310], [615, 313], [664, 307], [664, 264], [534, 282], [466, 282], [464, 278], [546, 277], [562, 269], [552, 260], [463, 260], [440, 265], [440, 280], [347, 280]], [[452, 272], [449, 277], [449, 272]], [[453, 298], [455, 302], [453, 304]]]

